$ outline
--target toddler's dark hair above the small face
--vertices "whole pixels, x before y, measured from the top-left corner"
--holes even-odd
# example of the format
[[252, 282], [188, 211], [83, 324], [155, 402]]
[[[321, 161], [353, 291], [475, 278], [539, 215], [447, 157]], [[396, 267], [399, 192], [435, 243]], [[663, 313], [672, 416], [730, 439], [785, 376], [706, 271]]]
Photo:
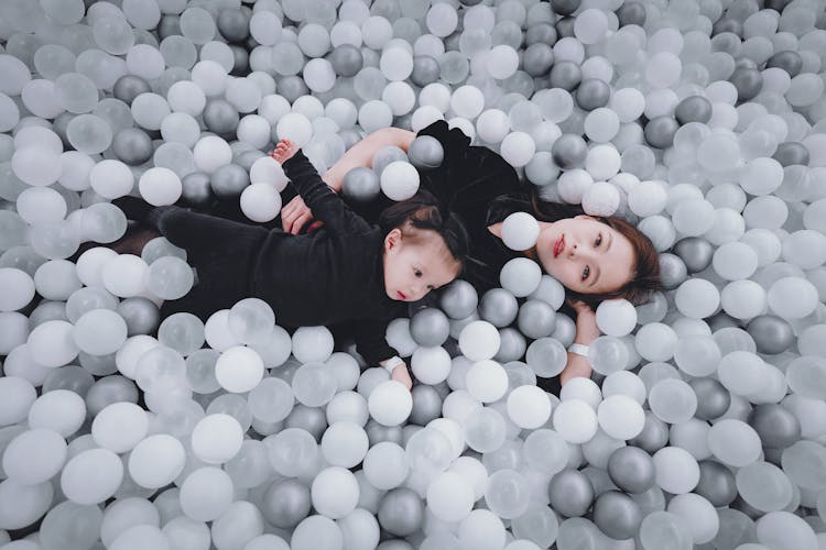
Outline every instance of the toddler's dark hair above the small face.
[[447, 251], [464, 268], [470, 249], [470, 237], [455, 212], [445, 208], [431, 193], [420, 189], [413, 197], [385, 208], [379, 217], [379, 227], [389, 233], [399, 228], [412, 242], [424, 239], [419, 230], [435, 231], [445, 242]]

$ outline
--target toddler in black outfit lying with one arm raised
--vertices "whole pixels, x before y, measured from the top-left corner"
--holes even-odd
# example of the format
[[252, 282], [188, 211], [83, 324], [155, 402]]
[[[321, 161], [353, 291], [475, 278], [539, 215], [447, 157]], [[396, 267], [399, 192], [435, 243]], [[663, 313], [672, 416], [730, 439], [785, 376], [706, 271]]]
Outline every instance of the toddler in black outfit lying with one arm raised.
[[129, 219], [186, 250], [196, 270], [197, 284], [183, 298], [166, 301], [162, 317], [188, 311], [206, 319], [257, 297], [282, 326], [347, 322], [365, 360], [410, 388], [405, 363], [384, 339], [387, 324], [406, 314], [404, 302], [459, 275], [467, 231], [426, 191], [390, 206], [378, 227], [371, 226], [327, 187], [292, 142], [279, 142], [272, 156], [324, 222], [319, 229], [292, 235], [174, 206], [151, 208], [134, 197], [115, 201]]

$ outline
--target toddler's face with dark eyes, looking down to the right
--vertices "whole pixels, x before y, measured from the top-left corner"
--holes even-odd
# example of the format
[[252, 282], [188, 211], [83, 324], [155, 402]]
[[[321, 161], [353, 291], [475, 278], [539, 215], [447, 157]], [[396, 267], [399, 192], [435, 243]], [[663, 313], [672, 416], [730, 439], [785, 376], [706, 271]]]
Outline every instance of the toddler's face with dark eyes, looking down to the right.
[[384, 289], [391, 299], [419, 301], [459, 273], [441, 239], [410, 243], [394, 229], [384, 239]]

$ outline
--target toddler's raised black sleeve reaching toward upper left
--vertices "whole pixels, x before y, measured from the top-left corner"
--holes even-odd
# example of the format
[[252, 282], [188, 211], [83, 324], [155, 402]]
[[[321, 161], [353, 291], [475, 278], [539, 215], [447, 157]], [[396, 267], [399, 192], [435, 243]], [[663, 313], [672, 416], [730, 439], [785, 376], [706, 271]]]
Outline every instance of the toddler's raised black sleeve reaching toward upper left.
[[315, 219], [323, 221], [334, 232], [363, 233], [372, 230], [324, 183], [303, 152], [298, 151], [287, 158], [282, 167]]

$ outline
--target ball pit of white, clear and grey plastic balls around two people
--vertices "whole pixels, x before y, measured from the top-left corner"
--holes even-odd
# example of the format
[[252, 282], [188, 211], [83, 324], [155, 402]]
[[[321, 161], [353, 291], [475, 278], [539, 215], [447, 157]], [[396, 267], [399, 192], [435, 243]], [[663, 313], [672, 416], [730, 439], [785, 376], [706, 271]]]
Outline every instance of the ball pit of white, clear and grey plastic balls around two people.
[[[3, 0], [0, 550], [823, 548], [824, 68], [823, 0]], [[442, 119], [661, 253], [558, 397], [576, 326], [526, 257], [390, 324], [409, 392], [254, 298], [161, 319], [186, 253], [105, 248], [126, 195], [265, 223], [273, 141], [324, 172]]]

